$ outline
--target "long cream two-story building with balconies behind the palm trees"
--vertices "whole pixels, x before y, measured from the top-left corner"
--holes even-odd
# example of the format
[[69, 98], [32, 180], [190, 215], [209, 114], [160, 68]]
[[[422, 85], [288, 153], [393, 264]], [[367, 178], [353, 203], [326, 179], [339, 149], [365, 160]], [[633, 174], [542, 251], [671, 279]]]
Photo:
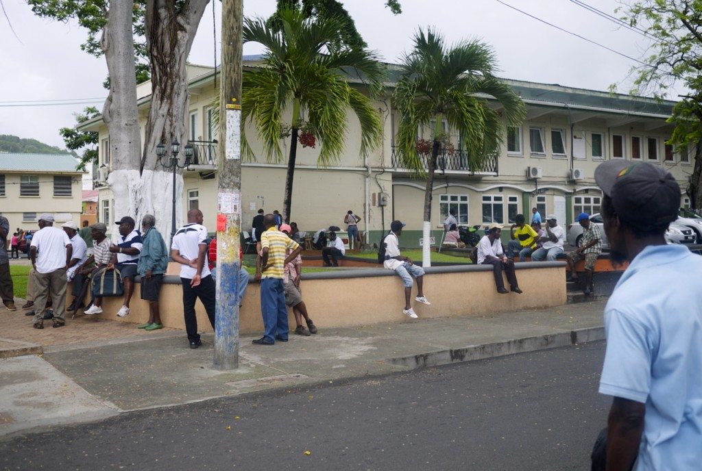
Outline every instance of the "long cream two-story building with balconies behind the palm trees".
[[[246, 59], [246, 58], [245, 58]], [[256, 67], [258, 57], [244, 61]], [[362, 217], [359, 227], [371, 242], [387, 231], [390, 221], [401, 219], [407, 226], [402, 243], [418, 246], [423, 219], [425, 179], [402, 168], [394, 138], [399, 123], [392, 106], [392, 84], [398, 67], [388, 64], [390, 86], [377, 100], [383, 122], [383, 141], [367, 158], [359, 156], [359, 123], [349, 114], [347, 144], [338, 162], [326, 168], [317, 165], [319, 149], [298, 146], [291, 220], [303, 231], [317, 231], [331, 225], [342, 226], [347, 210]], [[204, 224], [214, 229], [216, 218], [216, 153], [218, 132], [213, 127], [212, 110], [219, 88], [219, 70], [189, 66], [189, 141], [196, 149], [194, 165], [184, 172], [183, 217], [198, 207]], [[349, 78], [359, 88], [364, 84]], [[646, 97], [614, 95], [607, 92], [559, 85], [505, 80], [527, 105], [527, 118], [521, 126], [508, 128], [501, 151], [480, 166], [471, 168], [461, 143], [451, 130], [455, 150], [442, 151], [435, 175], [432, 227], [440, 235], [449, 208], [456, 210], [461, 224], [496, 222], [509, 226], [518, 213], [531, 214], [537, 207], [543, 216], [557, 214], [559, 224], [567, 225], [579, 212], [600, 210], [602, 193], [593, 178], [597, 165], [611, 158], [650, 162], [673, 173], [681, 189], [687, 187], [694, 152], [674, 152], [665, 144], [672, 126], [665, 120], [675, 102], [657, 102]], [[150, 83], [139, 86], [140, 120], [145, 123], [149, 107]], [[497, 107], [498, 104], [495, 104]], [[104, 180], [110, 170], [107, 127], [95, 118], [81, 130], [100, 134], [100, 172]], [[241, 211], [244, 231], [259, 208], [266, 212], [282, 209], [289, 139], [282, 140], [284, 160], [267, 162], [256, 130], [246, 127], [246, 135], [256, 161], [241, 164]], [[418, 138], [430, 139], [428, 130], [418, 130]], [[111, 221], [112, 194], [100, 186], [99, 219]], [[681, 194], [681, 205], [688, 205]], [[119, 216], [119, 215], [117, 215]]]

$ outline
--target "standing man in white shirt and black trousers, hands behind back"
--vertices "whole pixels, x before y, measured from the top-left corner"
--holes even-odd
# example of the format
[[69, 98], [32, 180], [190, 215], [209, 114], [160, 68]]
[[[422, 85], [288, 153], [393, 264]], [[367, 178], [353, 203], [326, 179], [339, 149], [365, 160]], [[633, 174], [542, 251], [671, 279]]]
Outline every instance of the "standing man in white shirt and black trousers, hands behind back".
[[202, 225], [202, 212], [187, 212], [187, 224], [176, 231], [171, 243], [171, 259], [180, 264], [180, 283], [183, 285], [183, 318], [190, 348], [202, 345], [197, 333], [195, 301], [199, 298], [215, 328], [216, 288], [206, 264], [207, 228]]

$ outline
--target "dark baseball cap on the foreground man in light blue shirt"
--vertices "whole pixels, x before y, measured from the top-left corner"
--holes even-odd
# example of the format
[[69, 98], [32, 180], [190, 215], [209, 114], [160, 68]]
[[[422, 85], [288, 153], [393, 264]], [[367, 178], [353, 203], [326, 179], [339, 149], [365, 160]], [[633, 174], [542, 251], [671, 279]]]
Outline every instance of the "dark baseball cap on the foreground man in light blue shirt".
[[677, 219], [680, 185], [657, 165], [607, 161], [597, 165], [595, 182], [630, 226], [647, 231]]

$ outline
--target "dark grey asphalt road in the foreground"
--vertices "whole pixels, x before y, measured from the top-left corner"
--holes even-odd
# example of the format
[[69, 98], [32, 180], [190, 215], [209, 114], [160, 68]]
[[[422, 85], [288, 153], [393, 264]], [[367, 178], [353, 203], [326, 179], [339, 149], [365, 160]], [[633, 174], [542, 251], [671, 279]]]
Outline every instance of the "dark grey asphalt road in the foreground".
[[137, 411], [4, 439], [0, 469], [589, 470], [603, 356], [596, 342]]

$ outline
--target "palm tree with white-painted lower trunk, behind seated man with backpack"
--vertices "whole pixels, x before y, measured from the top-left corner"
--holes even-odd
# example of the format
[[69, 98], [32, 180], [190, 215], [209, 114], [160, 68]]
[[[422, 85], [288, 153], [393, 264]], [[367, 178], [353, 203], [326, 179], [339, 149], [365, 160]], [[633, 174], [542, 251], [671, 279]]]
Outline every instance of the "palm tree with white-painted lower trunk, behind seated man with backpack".
[[[494, 100], [503, 109], [508, 125], [524, 120], [522, 100], [493, 74], [494, 54], [479, 41], [461, 41], [451, 48], [433, 29], [420, 29], [414, 48], [402, 60], [393, 101], [402, 114], [396, 144], [406, 168], [427, 175], [424, 196], [423, 238], [429, 240], [432, 212], [432, 186], [437, 156], [442, 146], [443, 121], [458, 132], [461, 147], [468, 151], [471, 169], [480, 169], [486, 158], [496, 153], [502, 142], [501, 112], [490, 106]], [[417, 130], [432, 130], [432, 150], [427, 169], [417, 151]], [[430, 244], [423, 245], [422, 264], [431, 266]]]

